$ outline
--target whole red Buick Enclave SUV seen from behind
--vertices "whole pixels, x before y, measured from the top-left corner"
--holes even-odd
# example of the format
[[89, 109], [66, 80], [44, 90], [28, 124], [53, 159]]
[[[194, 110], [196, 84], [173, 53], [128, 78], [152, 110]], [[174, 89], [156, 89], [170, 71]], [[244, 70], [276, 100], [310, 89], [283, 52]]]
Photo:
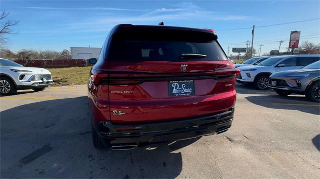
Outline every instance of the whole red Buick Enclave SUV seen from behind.
[[133, 149], [231, 127], [238, 70], [214, 30], [116, 25], [89, 62], [96, 148]]

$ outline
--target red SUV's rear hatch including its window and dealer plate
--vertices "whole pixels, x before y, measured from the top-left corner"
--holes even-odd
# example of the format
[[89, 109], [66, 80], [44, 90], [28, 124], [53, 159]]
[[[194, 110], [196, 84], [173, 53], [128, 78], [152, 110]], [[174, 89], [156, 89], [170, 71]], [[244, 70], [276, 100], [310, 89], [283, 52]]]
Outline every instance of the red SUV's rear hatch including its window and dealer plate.
[[210, 31], [126, 30], [107, 53], [112, 123], [189, 119], [234, 105], [233, 68]]

